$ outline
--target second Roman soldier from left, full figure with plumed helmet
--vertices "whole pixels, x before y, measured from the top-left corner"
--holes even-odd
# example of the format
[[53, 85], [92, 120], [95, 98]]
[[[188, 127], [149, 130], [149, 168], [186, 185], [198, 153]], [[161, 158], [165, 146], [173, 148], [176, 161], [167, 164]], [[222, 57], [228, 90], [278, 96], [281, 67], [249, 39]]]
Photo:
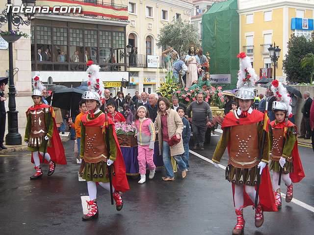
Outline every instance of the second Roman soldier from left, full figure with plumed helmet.
[[[80, 158], [82, 162], [79, 173], [87, 181], [90, 200], [86, 201], [89, 211], [82, 217], [83, 220], [98, 217], [96, 183], [110, 191], [109, 176], [111, 175], [113, 198], [117, 211], [123, 207], [121, 192], [129, 190], [126, 167], [114, 123], [99, 109], [105, 102], [100, 67], [93, 65], [92, 61], [87, 65], [89, 66], [87, 69], [89, 91], [84, 92], [82, 98], [85, 99], [88, 113], [81, 117], [80, 122]], [[109, 170], [109, 167], [112, 171]]]

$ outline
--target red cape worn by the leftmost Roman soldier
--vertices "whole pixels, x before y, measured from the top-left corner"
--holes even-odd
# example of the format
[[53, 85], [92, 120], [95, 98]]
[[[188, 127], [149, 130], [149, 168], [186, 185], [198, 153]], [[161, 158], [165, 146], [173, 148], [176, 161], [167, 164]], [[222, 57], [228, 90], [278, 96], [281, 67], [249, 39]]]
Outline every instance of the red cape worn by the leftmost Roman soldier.
[[[26, 117], [27, 117], [27, 113], [29, 110], [36, 110], [36, 109], [42, 109], [42, 108], [48, 108], [48, 107], [51, 107], [47, 104], [40, 104], [40, 105], [34, 105], [34, 107], [30, 107], [27, 111], [26, 111]], [[62, 165], [66, 165], [67, 164], [67, 160], [65, 158], [65, 154], [64, 154], [64, 148], [63, 148], [63, 144], [62, 144], [62, 141], [60, 139], [60, 136], [59, 136], [59, 132], [58, 132], [58, 128], [55, 124], [55, 120], [54, 120], [54, 113], [53, 113], [53, 109], [52, 110], [52, 120], [53, 120], [53, 132], [52, 132], [52, 139], [51, 139], [51, 144], [52, 146], [51, 147], [48, 147], [47, 148], [47, 152], [49, 153], [52, 161], [55, 163], [55, 164], [62, 164]], [[31, 153], [31, 162], [34, 163], [34, 160], [33, 160], [33, 153]], [[43, 156], [40, 156], [40, 163], [42, 163], [42, 158]], [[44, 163], [48, 163], [47, 160], [45, 159], [45, 162]]]

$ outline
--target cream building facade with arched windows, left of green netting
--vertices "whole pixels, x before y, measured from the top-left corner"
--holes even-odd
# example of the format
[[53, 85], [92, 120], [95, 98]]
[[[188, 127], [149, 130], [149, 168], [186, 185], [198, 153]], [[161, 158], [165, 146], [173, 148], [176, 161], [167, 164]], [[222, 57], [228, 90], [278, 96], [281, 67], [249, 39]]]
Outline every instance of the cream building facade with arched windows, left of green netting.
[[155, 92], [164, 81], [167, 70], [157, 48], [160, 28], [173, 19], [190, 21], [191, 0], [125, 0], [129, 5], [127, 26], [128, 53], [127, 71], [130, 73], [128, 93]]

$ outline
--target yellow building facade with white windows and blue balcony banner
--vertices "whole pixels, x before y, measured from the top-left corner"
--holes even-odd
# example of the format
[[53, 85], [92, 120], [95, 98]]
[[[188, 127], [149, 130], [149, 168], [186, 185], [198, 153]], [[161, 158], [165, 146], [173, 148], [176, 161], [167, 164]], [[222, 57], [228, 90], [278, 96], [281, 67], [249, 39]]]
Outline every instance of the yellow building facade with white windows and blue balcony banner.
[[283, 59], [291, 34], [310, 38], [313, 32], [314, 0], [238, 0], [240, 51], [250, 57], [260, 76], [273, 78], [268, 47], [279, 46], [276, 78], [285, 81]]

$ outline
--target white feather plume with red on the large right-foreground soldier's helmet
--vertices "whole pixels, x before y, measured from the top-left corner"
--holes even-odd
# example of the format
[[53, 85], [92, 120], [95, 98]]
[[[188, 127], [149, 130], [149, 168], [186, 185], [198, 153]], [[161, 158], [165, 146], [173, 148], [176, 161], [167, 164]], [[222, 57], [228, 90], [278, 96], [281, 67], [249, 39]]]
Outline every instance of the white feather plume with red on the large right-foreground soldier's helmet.
[[258, 76], [255, 73], [255, 70], [252, 68], [249, 57], [245, 56], [244, 58], [240, 58], [239, 69], [240, 70], [238, 71], [238, 74], [237, 74], [238, 81], [236, 83], [237, 88], [243, 87], [244, 84], [247, 84], [248, 87], [253, 88]]

